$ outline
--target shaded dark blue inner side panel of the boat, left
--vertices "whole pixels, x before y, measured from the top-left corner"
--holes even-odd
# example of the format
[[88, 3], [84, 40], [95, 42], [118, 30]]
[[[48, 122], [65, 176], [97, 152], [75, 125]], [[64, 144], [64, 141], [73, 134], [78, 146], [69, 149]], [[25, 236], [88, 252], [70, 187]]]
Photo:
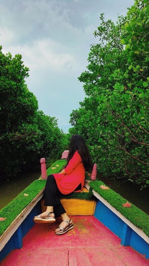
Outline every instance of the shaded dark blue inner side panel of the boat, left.
[[22, 238], [27, 234], [27, 232], [33, 227], [35, 224], [33, 222], [33, 217], [37, 214], [41, 213], [41, 202], [35, 205], [32, 211], [27, 215], [22, 224], [18, 227], [15, 233], [12, 235], [10, 240], [4, 246], [4, 248], [0, 252], [0, 262], [14, 249], [22, 247]]

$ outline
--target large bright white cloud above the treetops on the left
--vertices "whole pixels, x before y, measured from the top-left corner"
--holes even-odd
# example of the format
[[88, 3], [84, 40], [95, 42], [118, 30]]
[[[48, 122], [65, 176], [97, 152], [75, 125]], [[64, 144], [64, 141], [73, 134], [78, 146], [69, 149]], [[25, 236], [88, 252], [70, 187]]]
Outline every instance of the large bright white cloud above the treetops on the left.
[[[40, 40], [34, 43], [32, 47], [28, 45], [9, 46], [9, 51], [13, 56], [21, 54], [25, 66], [30, 69], [46, 69], [52, 71], [65, 72], [74, 69], [76, 60], [72, 54], [60, 52], [63, 50], [59, 43], [52, 40]], [[4, 49], [6, 52], [6, 49]]]

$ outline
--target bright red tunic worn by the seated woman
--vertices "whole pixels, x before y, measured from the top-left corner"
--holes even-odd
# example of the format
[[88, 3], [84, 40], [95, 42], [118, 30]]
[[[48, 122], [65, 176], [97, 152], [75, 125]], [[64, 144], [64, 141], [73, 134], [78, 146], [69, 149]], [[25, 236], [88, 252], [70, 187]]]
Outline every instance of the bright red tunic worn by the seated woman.
[[55, 177], [58, 189], [63, 194], [69, 194], [75, 191], [77, 186], [81, 183], [81, 191], [84, 186], [85, 180], [85, 168], [81, 156], [76, 151], [72, 159], [70, 159], [69, 164], [65, 168], [66, 174], [53, 174]]

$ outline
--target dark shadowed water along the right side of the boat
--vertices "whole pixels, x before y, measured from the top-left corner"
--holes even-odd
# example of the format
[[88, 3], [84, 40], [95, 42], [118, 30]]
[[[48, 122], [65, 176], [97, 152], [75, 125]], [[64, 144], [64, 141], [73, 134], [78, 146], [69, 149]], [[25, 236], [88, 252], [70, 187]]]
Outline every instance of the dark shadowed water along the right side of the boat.
[[120, 186], [117, 187], [116, 185], [112, 184], [107, 178], [101, 177], [100, 174], [97, 174], [97, 179], [101, 180], [110, 189], [114, 190], [115, 192], [120, 194], [124, 199], [133, 203], [136, 207], [138, 207], [143, 212], [146, 212], [149, 215], [149, 187], [140, 190], [139, 185], [130, 181], [122, 183], [120, 184]]

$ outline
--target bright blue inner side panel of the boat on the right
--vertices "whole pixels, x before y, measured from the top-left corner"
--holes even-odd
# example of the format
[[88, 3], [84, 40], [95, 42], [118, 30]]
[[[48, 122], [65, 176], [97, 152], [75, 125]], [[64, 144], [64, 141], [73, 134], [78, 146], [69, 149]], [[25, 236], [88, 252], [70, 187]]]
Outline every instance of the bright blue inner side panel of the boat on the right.
[[149, 244], [100, 200], [97, 201], [94, 216], [121, 239], [121, 245], [131, 246], [149, 259]]

